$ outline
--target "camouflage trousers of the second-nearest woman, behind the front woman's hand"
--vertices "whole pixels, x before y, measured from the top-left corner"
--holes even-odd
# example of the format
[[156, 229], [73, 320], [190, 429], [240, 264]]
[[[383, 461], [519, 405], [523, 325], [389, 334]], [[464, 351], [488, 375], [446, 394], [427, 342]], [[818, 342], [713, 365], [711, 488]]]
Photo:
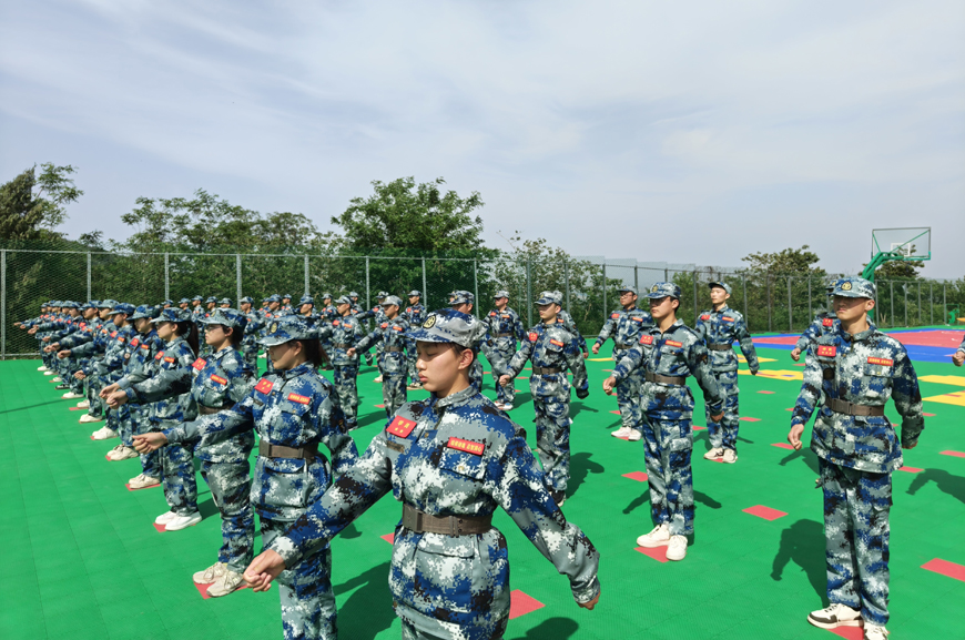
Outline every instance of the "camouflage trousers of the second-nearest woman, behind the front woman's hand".
[[[267, 548], [292, 522], [260, 518], [262, 545]], [[335, 593], [332, 590], [332, 548], [308, 556], [278, 576], [282, 631], [285, 640], [335, 640]]]

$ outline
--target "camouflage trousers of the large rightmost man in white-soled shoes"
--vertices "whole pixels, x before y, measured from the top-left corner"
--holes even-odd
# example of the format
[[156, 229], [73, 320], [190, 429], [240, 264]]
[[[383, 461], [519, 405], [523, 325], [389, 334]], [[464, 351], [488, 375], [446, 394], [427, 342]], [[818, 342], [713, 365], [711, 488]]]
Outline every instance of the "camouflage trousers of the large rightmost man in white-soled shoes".
[[860, 609], [865, 622], [888, 621], [891, 474], [817, 459], [824, 488], [827, 600]]

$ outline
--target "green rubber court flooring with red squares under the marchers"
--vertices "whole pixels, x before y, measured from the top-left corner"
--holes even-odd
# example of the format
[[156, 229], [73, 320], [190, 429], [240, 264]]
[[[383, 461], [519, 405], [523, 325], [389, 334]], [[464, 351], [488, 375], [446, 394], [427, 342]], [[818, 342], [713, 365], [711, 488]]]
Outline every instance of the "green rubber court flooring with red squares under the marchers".
[[[608, 343], [610, 345], [612, 343]], [[957, 343], [956, 343], [957, 344]], [[612, 362], [593, 357], [591, 396], [573, 402], [569, 519], [602, 556], [602, 598], [577, 608], [558, 576], [505, 512], [495, 524], [509, 540], [514, 612], [508, 639], [830, 639], [811, 627], [824, 606], [824, 538], [817, 463], [785, 441], [802, 368], [788, 352], [761, 345], [762, 373], [742, 375], [735, 465], [710, 463], [707, 431], [697, 430], [697, 536], [682, 562], [634, 549], [652, 528], [641, 443], [610, 436], [616, 398], [600, 390]], [[926, 429], [894, 475], [891, 572], [893, 640], [965, 637], [965, 369], [916, 363]], [[38, 360], [0, 363], [0, 638], [281, 638], [278, 596], [244, 590], [203, 599], [191, 575], [215, 561], [220, 519], [199, 478], [205, 519], [158, 532], [166, 509], [161, 489], [129, 491], [136, 459], [108, 463], [118, 440], [92, 441], [98, 425], [79, 425], [75, 400], [60, 399]], [[743, 366], [743, 365], [742, 365]], [[746, 370], [742, 372], [748, 374]], [[377, 374], [364, 367], [359, 449], [384, 426], [375, 407]], [[528, 383], [518, 380], [511, 416], [535, 446]], [[703, 412], [702, 396], [698, 410]], [[491, 377], [484, 393], [494, 397]], [[424, 392], [409, 397], [423, 397]], [[888, 405], [892, 421], [897, 421]], [[702, 417], [694, 419], [704, 425]], [[805, 436], [810, 438], [810, 429]], [[333, 542], [333, 583], [341, 638], [398, 638], [387, 588], [390, 535], [400, 506], [386, 496]], [[260, 548], [261, 541], [256, 540]], [[857, 634], [844, 637], [860, 638]]]

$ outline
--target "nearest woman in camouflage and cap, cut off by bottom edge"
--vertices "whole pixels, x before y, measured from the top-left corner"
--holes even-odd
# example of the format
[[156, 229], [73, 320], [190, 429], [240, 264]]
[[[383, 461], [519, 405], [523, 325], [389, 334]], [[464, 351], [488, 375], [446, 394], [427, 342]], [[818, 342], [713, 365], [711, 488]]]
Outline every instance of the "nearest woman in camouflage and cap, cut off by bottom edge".
[[245, 571], [255, 591], [325, 548], [386, 494], [403, 501], [389, 589], [405, 640], [502, 638], [509, 621], [509, 555], [492, 527], [501, 507], [567, 576], [577, 605], [599, 601], [599, 552], [546, 489], [526, 431], [469, 382], [475, 317], [433, 312], [414, 329], [429, 398], [403, 405], [386, 428], [308, 511]]

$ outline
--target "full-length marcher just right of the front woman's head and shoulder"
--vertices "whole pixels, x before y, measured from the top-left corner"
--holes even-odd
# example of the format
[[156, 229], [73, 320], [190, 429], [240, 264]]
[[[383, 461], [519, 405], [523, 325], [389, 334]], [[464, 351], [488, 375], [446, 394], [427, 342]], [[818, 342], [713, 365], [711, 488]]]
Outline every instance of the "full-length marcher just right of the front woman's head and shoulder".
[[500, 376], [499, 384], [516, 382], [516, 376], [528, 360], [532, 360], [529, 388], [536, 410], [536, 441], [539, 461], [542, 463], [547, 488], [562, 507], [566, 501], [567, 481], [570, 477], [570, 382], [567, 369], [573, 374], [572, 386], [577, 397], [590, 395], [587, 365], [580, 355], [577, 336], [557, 322], [561, 299], [556, 292], [545, 291], [539, 305], [540, 323], [529, 329], [527, 341]]

